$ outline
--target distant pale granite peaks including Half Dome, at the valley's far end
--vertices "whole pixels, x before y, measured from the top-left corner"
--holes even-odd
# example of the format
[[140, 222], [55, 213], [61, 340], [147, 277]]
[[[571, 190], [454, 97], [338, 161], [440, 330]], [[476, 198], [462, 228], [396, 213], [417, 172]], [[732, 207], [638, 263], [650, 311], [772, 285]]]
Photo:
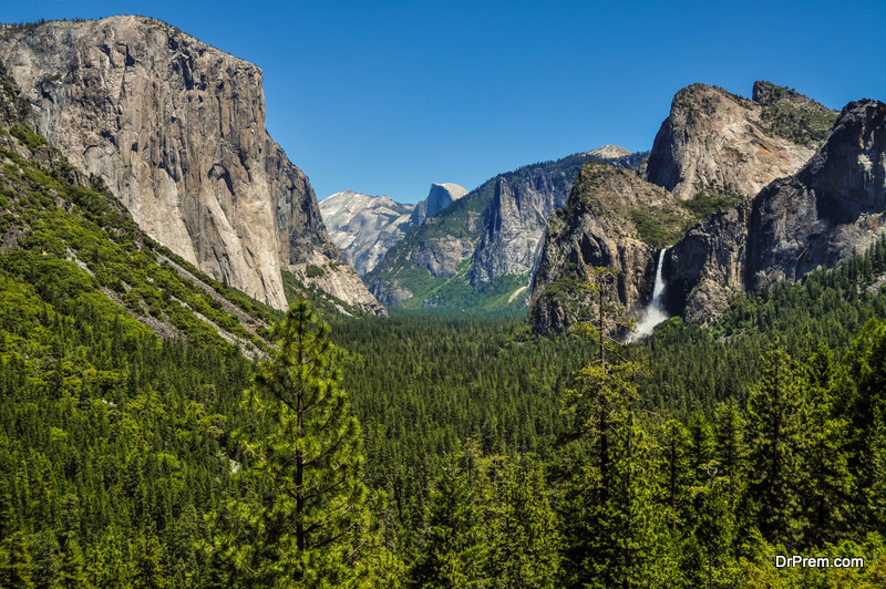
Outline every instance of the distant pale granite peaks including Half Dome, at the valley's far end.
[[360, 276], [378, 266], [406, 231], [421, 225], [467, 194], [457, 184], [432, 184], [427, 197], [404, 205], [388, 196], [372, 197], [352, 190], [320, 202], [320, 213], [336, 246]]

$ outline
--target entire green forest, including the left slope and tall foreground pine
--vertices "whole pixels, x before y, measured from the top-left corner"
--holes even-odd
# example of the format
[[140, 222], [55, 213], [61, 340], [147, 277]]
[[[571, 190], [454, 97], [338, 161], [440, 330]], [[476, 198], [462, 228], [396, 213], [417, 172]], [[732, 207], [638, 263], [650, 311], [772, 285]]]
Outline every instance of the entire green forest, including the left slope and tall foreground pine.
[[0, 587], [886, 586], [886, 241], [631, 345], [284, 314], [3, 91]]

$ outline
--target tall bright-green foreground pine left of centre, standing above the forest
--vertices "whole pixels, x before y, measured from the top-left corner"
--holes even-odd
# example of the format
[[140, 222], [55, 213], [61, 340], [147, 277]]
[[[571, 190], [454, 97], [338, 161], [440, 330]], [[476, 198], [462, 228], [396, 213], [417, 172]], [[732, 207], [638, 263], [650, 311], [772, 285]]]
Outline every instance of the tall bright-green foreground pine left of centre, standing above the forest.
[[216, 514], [209, 550], [236, 569], [219, 576], [233, 585], [358, 582], [358, 572], [373, 572], [367, 562], [375, 530], [360, 426], [339, 388], [329, 327], [300, 299], [274, 339], [277, 351], [258, 365], [245, 401], [269, 418], [270, 433], [238, 433], [268, 493], [260, 505], [229, 504]]

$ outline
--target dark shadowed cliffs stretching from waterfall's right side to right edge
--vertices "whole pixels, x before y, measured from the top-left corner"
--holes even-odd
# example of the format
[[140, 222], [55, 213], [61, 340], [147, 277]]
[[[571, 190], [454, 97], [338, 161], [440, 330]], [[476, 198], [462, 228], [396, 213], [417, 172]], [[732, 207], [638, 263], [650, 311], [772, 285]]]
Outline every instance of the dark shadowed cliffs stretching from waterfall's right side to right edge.
[[847, 104], [795, 176], [696, 226], [668, 254], [669, 307], [694, 320], [735, 289], [799, 280], [863, 251], [886, 221], [886, 104]]

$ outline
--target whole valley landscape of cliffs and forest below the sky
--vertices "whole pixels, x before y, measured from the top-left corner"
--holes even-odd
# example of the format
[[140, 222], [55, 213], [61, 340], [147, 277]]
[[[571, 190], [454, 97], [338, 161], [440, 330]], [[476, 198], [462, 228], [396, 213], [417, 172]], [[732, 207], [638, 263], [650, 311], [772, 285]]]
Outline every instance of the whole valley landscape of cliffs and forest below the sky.
[[318, 202], [169, 24], [0, 62], [0, 587], [886, 582], [883, 102]]

